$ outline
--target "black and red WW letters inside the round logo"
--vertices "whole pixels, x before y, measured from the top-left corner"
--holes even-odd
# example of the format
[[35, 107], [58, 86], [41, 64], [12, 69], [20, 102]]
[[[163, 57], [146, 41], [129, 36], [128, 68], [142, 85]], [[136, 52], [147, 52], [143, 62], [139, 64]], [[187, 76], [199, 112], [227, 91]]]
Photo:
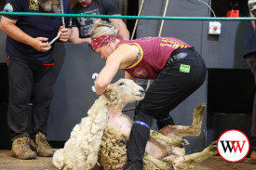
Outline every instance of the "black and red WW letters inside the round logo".
[[221, 140], [220, 142], [222, 143], [222, 149], [224, 150], [224, 152], [228, 150], [231, 153], [234, 150], [234, 152], [236, 153], [238, 149], [241, 153], [245, 146], [246, 140]]

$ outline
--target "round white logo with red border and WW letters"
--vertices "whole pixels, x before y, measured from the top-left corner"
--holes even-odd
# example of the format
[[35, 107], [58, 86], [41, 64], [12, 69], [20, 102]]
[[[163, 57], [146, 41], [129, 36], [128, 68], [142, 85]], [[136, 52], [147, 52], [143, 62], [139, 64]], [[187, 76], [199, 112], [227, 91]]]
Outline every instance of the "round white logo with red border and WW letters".
[[243, 132], [231, 129], [219, 137], [217, 149], [223, 160], [236, 163], [248, 155], [249, 139]]

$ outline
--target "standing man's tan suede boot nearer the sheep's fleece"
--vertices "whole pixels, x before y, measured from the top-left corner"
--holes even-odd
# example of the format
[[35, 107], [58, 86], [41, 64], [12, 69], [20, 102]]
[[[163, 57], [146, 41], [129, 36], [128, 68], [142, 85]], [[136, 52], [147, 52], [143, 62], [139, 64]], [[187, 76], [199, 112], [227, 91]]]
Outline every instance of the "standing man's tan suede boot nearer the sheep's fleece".
[[42, 157], [51, 157], [55, 152], [55, 150], [49, 146], [47, 137], [40, 132], [36, 134], [35, 141], [33, 139], [31, 140], [30, 146], [32, 150], [37, 152], [38, 156]]

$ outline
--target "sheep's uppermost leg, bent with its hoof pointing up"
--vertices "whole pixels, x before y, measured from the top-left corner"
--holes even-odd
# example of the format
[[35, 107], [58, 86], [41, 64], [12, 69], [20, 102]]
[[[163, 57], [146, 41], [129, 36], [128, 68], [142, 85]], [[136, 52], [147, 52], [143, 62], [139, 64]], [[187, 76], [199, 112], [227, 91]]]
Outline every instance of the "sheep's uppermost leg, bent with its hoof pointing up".
[[203, 114], [206, 110], [206, 103], [197, 106], [193, 113], [193, 123], [190, 126], [168, 125], [159, 130], [159, 133], [168, 137], [182, 138], [185, 136], [197, 137], [201, 133]]

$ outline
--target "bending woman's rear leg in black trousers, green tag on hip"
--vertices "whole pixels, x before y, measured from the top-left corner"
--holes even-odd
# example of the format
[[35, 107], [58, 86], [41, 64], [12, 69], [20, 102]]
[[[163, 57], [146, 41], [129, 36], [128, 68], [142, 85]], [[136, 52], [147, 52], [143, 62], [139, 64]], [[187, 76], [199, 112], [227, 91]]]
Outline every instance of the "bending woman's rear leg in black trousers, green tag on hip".
[[[150, 93], [150, 99], [157, 101], [153, 105], [150, 104], [151, 108], [148, 110], [153, 113], [158, 129], [174, 124], [169, 111], [172, 111], [185, 98], [189, 97], [205, 80], [207, 71], [203, 60], [195, 51], [188, 51], [187, 53], [186, 59], [177, 60], [163, 70], [161, 72], [163, 75], [160, 74], [151, 88], [148, 89], [150, 92], [154, 86], [157, 86], [154, 93]], [[181, 72], [181, 64], [189, 65], [191, 70]]]

